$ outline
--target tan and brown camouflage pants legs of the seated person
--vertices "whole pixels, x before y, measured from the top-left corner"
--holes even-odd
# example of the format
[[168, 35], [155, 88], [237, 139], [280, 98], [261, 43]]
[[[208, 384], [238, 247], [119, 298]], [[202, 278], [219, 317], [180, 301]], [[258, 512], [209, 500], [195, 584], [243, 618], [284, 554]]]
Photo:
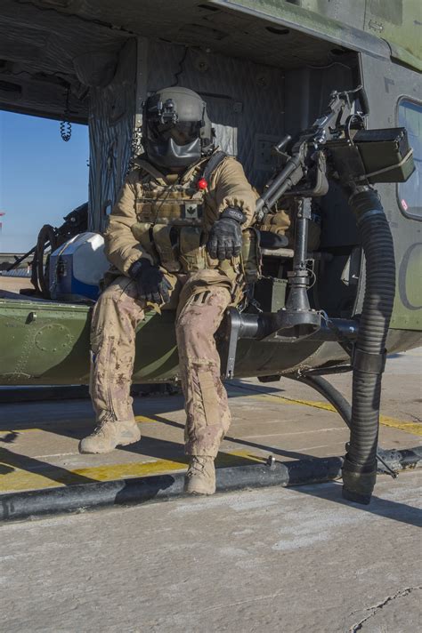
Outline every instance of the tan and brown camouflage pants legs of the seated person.
[[[220, 380], [214, 334], [231, 302], [220, 286], [191, 296], [179, 310], [176, 338], [185, 398], [185, 451], [215, 457], [230, 426], [227, 394]], [[93, 308], [90, 394], [97, 419], [134, 419], [130, 387], [134, 371], [135, 329], [144, 317], [136, 285], [121, 276]]]

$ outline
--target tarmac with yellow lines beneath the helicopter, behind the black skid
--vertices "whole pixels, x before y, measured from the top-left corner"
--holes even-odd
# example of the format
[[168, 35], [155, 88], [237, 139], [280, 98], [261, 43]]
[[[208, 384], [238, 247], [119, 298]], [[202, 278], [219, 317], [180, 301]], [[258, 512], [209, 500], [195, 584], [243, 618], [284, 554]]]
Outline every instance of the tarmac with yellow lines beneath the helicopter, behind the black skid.
[[[380, 445], [422, 443], [422, 349], [393, 355], [384, 380]], [[349, 396], [350, 375], [332, 379]], [[344, 422], [312, 389], [287, 379], [227, 383], [233, 417], [217, 467], [345, 453]], [[93, 428], [89, 400], [1, 405], [0, 493], [53, 488], [183, 471], [183, 398], [150, 395], [134, 401], [141, 442], [106, 455], [80, 455]]]

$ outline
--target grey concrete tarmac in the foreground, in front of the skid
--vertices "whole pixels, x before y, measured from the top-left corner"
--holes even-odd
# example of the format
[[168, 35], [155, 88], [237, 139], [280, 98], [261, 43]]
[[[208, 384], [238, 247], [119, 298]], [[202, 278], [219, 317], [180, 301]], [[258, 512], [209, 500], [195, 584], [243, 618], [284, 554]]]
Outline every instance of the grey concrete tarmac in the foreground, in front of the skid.
[[181, 498], [2, 528], [8, 633], [416, 633], [420, 471]]

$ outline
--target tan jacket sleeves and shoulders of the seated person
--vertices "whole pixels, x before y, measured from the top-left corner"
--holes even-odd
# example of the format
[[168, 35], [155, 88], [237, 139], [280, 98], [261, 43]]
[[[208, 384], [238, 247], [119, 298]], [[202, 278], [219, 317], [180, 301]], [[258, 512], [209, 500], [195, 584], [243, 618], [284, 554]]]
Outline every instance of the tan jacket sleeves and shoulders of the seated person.
[[[192, 179], [194, 172], [198, 172], [199, 166], [203, 171], [207, 160], [208, 158], [201, 160], [188, 172], [183, 173], [181, 182]], [[142, 164], [142, 161], [140, 163]], [[150, 254], [142, 252], [141, 244], [132, 233], [132, 227], [137, 221], [136, 201], [144, 195], [140, 181], [142, 173], [144, 174], [138, 165], [127, 176], [118, 201], [110, 213], [109, 226], [104, 235], [106, 256], [124, 275], [127, 275], [131, 265], [140, 257], [151, 260]], [[166, 180], [163, 175], [161, 178]], [[254, 220], [256, 198], [256, 192], [249, 185], [241, 164], [233, 156], [227, 156], [215, 169], [205, 192], [204, 230], [208, 231], [228, 206], [239, 206], [242, 209], [247, 216], [242, 228], [248, 228]]]

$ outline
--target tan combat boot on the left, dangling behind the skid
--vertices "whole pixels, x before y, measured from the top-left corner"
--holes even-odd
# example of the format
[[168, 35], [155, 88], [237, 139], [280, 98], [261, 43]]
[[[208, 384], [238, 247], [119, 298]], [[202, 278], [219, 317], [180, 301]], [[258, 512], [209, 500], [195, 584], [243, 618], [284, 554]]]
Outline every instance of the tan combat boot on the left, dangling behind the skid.
[[141, 439], [141, 431], [134, 420], [105, 418], [93, 433], [79, 442], [79, 453], [110, 453], [116, 446], [126, 446]]

